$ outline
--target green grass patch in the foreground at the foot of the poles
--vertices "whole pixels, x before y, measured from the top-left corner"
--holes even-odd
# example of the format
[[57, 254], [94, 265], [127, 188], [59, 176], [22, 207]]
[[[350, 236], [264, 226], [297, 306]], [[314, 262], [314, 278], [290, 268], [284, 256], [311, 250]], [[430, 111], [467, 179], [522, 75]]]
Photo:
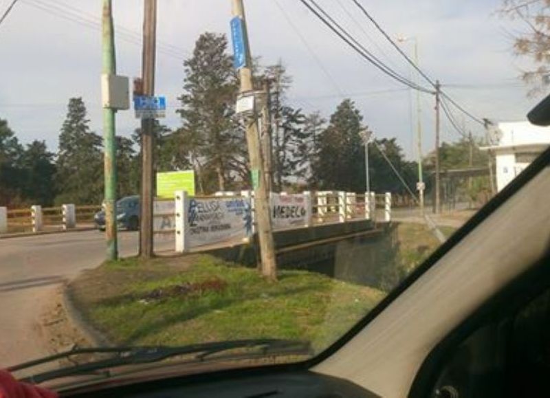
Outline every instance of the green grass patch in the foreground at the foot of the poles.
[[282, 271], [269, 283], [211, 256], [106, 263], [77, 278], [69, 293], [115, 344], [282, 338], [309, 340], [316, 351], [384, 296], [314, 272]]

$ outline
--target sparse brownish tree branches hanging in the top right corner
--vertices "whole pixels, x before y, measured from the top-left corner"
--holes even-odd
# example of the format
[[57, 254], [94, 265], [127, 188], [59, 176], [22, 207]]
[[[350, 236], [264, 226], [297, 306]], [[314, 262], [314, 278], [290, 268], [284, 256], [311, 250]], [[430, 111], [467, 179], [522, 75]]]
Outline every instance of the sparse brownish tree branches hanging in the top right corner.
[[533, 60], [535, 67], [522, 72], [522, 78], [538, 94], [550, 85], [550, 0], [503, 0], [500, 14], [520, 21], [515, 31], [514, 52]]

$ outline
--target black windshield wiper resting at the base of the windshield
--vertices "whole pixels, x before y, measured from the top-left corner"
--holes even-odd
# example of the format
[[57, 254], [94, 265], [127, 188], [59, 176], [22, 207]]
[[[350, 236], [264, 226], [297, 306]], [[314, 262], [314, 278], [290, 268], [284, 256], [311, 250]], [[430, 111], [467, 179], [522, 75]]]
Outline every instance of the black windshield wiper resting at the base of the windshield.
[[206, 357], [231, 351], [235, 349], [259, 349], [262, 355], [311, 355], [312, 349], [309, 342], [299, 340], [278, 340], [278, 339], [254, 339], [254, 340], [234, 340], [228, 342], [214, 342], [205, 344], [192, 344], [188, 346], [142, 346], [142, 347], [100, 347], [87, 349], [72, 349], [56, 355], [25, 362], [17, 366], [8, 368], [10, 372], [21, 371], [26, 368], [32, 368], [41, 364], [54, 362], [56, 360], [69, 359], [76, 355], [83, 354], [109, 354], [113, 357], [85, 364], [78, 364], [68, 368], [61, 368], [55, 371], [47, 371], [26, 377], [25, 382], [39, 384], [47, 380], [58, 379], [74, 375], [85, 375], [95, 373], [102, 369], [115, 368], [118, 366], [133, 364], [148, 364], [167, 360], [170, 357], [180, 355], [197, 354], [192, 357], [193, 360], [205, 360]]

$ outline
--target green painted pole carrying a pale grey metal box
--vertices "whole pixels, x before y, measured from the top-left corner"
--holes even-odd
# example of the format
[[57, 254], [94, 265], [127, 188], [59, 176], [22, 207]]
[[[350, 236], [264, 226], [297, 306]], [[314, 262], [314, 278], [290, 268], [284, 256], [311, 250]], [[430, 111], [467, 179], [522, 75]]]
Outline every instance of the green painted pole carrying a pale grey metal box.
[[[116, 74], [115, 32], [113, 27], [113, 5], [111, 0], [103, 0], [103, 67], [104, 75]], [[104, 140], [104, 206], [105, 238], [107, 240], [107, 260], [118, 259], [118, 236], [116, 225], [117, 173], [115, 109], [103, 109]]]

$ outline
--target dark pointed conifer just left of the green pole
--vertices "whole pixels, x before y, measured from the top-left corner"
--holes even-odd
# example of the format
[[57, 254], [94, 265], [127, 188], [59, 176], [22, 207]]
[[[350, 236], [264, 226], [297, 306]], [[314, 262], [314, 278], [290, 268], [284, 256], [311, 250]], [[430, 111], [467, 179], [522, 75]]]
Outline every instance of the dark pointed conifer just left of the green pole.
[[59, 135], [57, 203], [100, 203], [103, 197], [102, 140], [90, 131], [82, 98], [71, 98]]

